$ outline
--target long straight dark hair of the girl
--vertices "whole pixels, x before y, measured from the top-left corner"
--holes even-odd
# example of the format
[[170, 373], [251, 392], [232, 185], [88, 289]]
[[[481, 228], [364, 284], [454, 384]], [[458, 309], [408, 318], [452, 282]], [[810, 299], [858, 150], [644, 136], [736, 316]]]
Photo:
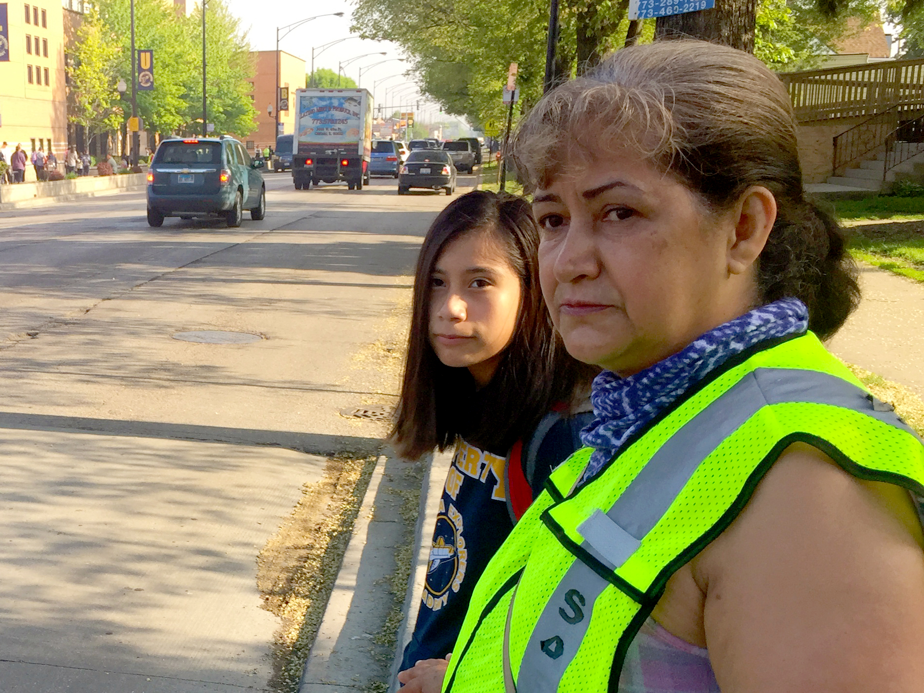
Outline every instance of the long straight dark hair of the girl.
[[[519, 276], [517, 327], [491, 382], [477, 389], [466, 368], [437, 358], [430, 342], [431, 277], [446, 246], [466, 233], [490, 233]], [[391, 439], [407, 459], [445, 449], [462, 436], [505, 454], [556, 402], [571, 403], [592, 371], [568, 356], [539, 286], [539, 229], [529, 203], [476, 190], [451, 202], [427, 231], [417, 260], [407, 362]]]

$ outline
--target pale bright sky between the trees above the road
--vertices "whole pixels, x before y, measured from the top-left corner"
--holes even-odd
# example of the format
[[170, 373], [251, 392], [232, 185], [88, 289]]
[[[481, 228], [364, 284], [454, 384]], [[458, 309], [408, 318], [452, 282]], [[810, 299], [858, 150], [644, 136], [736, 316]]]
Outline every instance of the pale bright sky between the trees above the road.
[[[332, 15], [334, 12], [343, 12], [343, 17], [319, 17], [292, 30], [286, 38], [279, 42], [279, 49], [305, 60], [305, 71], [311, 70], [311, 49], [314, 49], [314, 67], [328, 67], [336, 72], [338, 63], [357, 58], [346, 66], [346, 76], [359, 82], [360, 87], [372, 91], [375, 105], [384, 103], [387, 110], [393, 105], [416, 106], [421, 101], [420, 116], [427, 113], [438, 113], [439, 107], [433, 103], [425, 102], [415, 88], [414, 80], [405, 77], [408, 64], [399, 62], [394, 58], [403, 57], [395, 43], [366, 41], [359, 38], [350, 38], [342, 43], [336, 43], [322, 49], [324, 43], [350, 36], [350, 15], [353, 7], [341, 0], [226, 0], [231, 12], [241, 19], [241, 26], [249, 30], [248, 39], [251, 49], [255, 51], [272, 51], [276, 43], [276, 27], [286, 26], [300, 19], [315, 17], [317, 15]], [[192, 3], [188, 3], [191, 6]], [[280, 31], [280, 34], [285, 30]], [[319, 53], [320, 52], [320, 53]], [[384, 52], [386, 55], [380, 55]], [[359, 55], [366, 57], [358, 57]], [[382, 65], [376, 65], [380, 61]], [[375, 66], [375, 67], [371, 67]], [[362, 78], [359, 79], [359, 68], [363, 68]], [[369, 67], [367, 70], [366, 67]], [[392, 77], [392, 76], [395, 77]], [[385, 79], [391, 78], [391, 79]], [[378, 82], [376, 85], [375, 82]], [[387, 92], [386, 92], [387, 90]], [[405, 94], [406, 96], [403, 96]], [[408, 110], [408, 109], [399, 109]], [[414, 109], [410, 109], [414, 110]]]

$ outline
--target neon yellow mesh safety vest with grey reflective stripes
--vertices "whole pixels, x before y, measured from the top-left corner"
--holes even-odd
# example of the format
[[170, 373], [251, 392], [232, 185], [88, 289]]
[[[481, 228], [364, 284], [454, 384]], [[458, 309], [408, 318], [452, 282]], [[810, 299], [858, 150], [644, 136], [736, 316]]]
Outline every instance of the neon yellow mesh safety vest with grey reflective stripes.
[[453, 693], [616, 691], [669, 577], [727, 528], [784, 449], [924, 495], [924, 445], [811, 333], [731, 359], [578, 483], [552, 475], [475, 588]]

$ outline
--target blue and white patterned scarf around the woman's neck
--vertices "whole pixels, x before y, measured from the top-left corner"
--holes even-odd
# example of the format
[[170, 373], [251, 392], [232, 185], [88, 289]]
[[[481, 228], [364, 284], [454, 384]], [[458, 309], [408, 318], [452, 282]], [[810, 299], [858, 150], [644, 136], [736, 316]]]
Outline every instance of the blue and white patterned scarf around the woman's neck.
[[590, 395], [596, 418], [581, 432], [583, 443], [595, 448], [583, 479], [594, 476], [629, 436], [727, 359], [767, 339], [807, 329], [805, 304], [781, 298], [701, 334], [682, 351], [627, 378], [602, 371]]

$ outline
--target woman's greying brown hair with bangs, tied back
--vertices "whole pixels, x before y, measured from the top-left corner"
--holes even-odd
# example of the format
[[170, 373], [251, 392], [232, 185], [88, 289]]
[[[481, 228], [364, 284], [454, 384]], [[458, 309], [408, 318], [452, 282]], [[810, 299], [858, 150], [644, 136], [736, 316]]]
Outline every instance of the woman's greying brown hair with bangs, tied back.
[[514, 157], [528, 188], [545, 188], [576, 160], [626, 148], [713, 212], [750, 186], [772, 192], [776, 222], [758, 260], [762, 302], [800, 298], [822, 338], [857, 307], [844, 233], [803, 194], [789, 95], [756, 57], [693, 40], [624, 48], [546, 94], [518, 128]]

